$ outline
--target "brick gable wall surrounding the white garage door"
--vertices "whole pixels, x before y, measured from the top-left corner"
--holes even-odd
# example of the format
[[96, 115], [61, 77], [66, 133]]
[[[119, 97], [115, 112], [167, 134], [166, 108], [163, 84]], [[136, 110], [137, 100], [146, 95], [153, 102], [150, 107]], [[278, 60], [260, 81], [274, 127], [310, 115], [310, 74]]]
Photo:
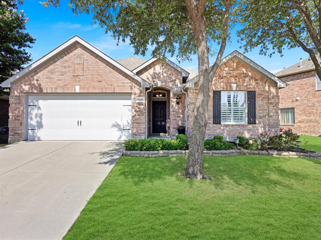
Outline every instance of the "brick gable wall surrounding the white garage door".
[[[74, 59], [83, 59], [83, 76], [73, 76]], [[132, 93], [132, 137], [144, 138], [145, 104], [135, 103], [135, 97], [144, 97], [145, 89], [100, 56], [76, 44], [11, 88], [9, 141], [19, 141], [23, 137], [24, 92], [74, 93], [76, 85], [82, 93]]]

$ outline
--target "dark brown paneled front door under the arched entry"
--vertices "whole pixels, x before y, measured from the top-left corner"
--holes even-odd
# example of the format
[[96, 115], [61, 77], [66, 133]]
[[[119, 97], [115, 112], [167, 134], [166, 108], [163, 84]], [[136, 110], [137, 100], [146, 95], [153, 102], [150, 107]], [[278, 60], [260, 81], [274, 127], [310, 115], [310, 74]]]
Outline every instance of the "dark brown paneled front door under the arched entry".
[[166, 127], [166, 101], [152, 102], [152, 132], [167, 133]]

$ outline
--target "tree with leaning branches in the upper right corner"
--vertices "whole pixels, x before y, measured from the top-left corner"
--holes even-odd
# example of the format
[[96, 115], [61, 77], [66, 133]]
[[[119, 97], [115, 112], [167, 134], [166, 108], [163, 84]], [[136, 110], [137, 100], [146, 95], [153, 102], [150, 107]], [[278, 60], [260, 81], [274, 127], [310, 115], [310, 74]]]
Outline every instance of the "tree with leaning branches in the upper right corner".
[[310, 55], [321, 79], [321, 0], [241, 0], [240, 41], [247, 52], [282, 54], [284, 47], [301, 47]]

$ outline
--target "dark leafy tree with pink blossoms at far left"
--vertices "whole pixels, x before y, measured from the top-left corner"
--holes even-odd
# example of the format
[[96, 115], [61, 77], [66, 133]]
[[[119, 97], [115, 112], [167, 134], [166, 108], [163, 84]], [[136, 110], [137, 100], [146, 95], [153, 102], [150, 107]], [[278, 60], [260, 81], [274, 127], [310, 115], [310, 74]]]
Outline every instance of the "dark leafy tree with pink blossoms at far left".
[[29, 20], [23, 10], [18, 11], [22, 0], [2, 0], [0, 2], [0, 83], [20, 71], [30, 62], [31, 48], [36, 39], [25, 32]]

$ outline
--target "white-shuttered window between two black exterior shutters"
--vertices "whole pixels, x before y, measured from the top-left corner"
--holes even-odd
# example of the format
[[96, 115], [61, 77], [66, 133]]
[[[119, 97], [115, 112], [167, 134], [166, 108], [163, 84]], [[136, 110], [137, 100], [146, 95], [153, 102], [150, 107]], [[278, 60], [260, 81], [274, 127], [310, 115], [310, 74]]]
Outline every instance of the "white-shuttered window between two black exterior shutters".
[[246, 123], [246, 92], [221, 92], [221, 123]]

